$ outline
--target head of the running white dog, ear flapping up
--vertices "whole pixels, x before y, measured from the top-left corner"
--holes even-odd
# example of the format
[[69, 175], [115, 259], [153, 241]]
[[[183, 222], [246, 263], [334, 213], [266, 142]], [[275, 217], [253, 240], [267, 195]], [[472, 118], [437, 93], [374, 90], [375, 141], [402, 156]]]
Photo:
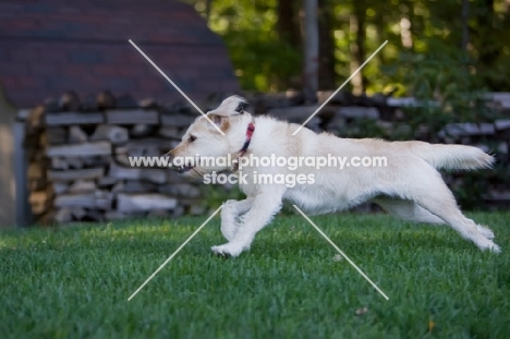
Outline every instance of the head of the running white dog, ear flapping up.
[[[228, 164], [222, 166], [216, 159], [234, 155], [243, 146], [246, 126], [252, 121], [251, 114], [245, 112], [246, 107], [246, 100], [234, 95], [224, 99], [217, 109], [208, 111], [208, 119], [198, 117], [184, 133], [181, 143], [168, 153], [174, 159], [172, 162], [179, 173], [196, 178], [212, 171], [229, 170]], [[215, 160], [197, 164], [193, 160], [197, 158]]]

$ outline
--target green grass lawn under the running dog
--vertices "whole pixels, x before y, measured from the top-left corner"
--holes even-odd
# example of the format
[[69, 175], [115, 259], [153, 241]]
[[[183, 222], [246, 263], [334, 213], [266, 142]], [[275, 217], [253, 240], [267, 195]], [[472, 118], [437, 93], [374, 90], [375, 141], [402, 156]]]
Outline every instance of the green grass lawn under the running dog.
[[[385, 215], [279, 216], [238, 258], [215, 217], [0, 232], [1, 338], [509, 338], [510, 213], [471, 214], [502, 253]], [[356, 314], [367, 307], [364, 314]], [[360, 312], [357, 312], [360, 313]]]

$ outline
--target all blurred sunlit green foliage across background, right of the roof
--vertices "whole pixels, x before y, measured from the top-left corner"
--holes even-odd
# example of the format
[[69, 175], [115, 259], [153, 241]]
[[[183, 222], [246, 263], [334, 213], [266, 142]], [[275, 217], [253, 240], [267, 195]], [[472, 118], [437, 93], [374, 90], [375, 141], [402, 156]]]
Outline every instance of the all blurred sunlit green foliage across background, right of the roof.
[[[206, 0], [186, 0], [198, 12], [205, 13]], [[302, 49], [278, 34], [279, 0], [221, 0], [211, 1], [208, 23], [210, 28], [224, 40], [236, 74], [247, 90], [286, 90], [296, 87], [302, 72]], [[287, 0], [286, 0], [287, 1]], [[302, 4], [289, 0], [295, 9]], [[463, 68], [465, 75], [476, 73], [477, 86], [489, 90], [510, 90], [507, 76], [510, 64], [510, 11], [503, 0], [469, 1], [469, 45], [462, 50], [462, 2], [445, 1], [319, 1], [321, 10], [330, 14], [336, 57], [337, 78], [342, 81], [350, 73], [351, 47], [356, 32], [350, 28], [355, 15], [355, 7], [364, 7], [365, 35], [363, 41], [365, 58], [382, 41], [389, 44], [364, 69], [366, 90], [388, 92], [394, 87], [400, 94], [411, 95], [418, 88], [410, 88], [404, 77], [408, 73], [388, 74], [386, 66], [400, 66], [402, 55], [411, 58], [436, 59], [451, 64], [452, 57], [470, 59], [470, 68]], [[299, 29], [302, 13], [295, 11], [293, 23]], [[404, 21], [410, 22], [411, 46], [403, 45]], [[446, 57], [441, 59], [442, 56]], [[428, 69], [428, 71], [434, 71]], [[425, 74], [423, 74], [425, 75]], [[430, 75], [430, 74], [428, 74]], [[427, 75], [427, 76], [428, 76]], [[442, 81], [447, 81], [444, 78]], [[461, 83], [450, 83], [449, 92], [454, 92]], [[422, 86], [427, 86], [423, 84]], [[425, 88], [426, 89], [426, 88]], [[433, 88], [434, 89], [434, 88]]]

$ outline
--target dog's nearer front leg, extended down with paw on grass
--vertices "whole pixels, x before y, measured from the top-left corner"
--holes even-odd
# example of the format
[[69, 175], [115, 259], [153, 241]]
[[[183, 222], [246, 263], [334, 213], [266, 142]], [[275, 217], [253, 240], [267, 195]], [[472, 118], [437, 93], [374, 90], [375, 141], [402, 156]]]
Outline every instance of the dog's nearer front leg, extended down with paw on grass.
[[230, 242], [212, 246], [212, 252], [228, 256], [239, 256], [241, 252], [248, 250], [255, 234], [269, 223], [281, 209], [280, 194], [259, 194], [253, 199], [252, 208], [241, 217], [241, 225]]

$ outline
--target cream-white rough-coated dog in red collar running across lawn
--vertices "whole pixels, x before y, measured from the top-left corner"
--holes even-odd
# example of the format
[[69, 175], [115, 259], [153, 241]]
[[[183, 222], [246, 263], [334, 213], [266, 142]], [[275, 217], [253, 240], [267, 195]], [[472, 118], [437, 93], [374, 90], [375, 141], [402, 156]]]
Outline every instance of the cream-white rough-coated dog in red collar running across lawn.
[[[386, 142], [381, 140], [340, 138], [329, 133], [316, 134], [302, 129], [292, 135], [298, 124], [269, 117], [252, 117], [244, 109], [246, 101], [231, 96], [199, 117], [186, 131], [172, 157], [227, 157], [242, 159], [250, 155], [263, 157], [342, 157], [363, 159], [386, 157], [386, 167], [299, 167], [289, 168], [260, 164], [244, 164], [240, 182], [246, 194], [243, 201], [228, 201], [221, 211], [221, 232], [228, 243], [212, 251], [226, 256], [239, 256], [248, 250], [255, 234], [268, 225], [282, 202], [291, 202], [309, 214], [343, 210], [373, 201], [404, 220], [447, 223], [481, 250], [499, 252], [494, 233], [462, 215], [456, 199], [441, 179], [438, 169], [489, 168], [493, 157], [481, 149], [462, 145], [433, 145], [424, 142]], [[212, 123], [216, 126], [212, 125]], [[219, 128], [224, 135], [222, 135]], [[245, 160], [245, 159], [243, 159]], [[214, 171], [233, 171], [227, 165], [191, 164], [179, 172], [201, 177]], [[259, 174], [304, 174], [315, 181], [301, 180], [294, 186], [286, 183], [257, 183]]]

